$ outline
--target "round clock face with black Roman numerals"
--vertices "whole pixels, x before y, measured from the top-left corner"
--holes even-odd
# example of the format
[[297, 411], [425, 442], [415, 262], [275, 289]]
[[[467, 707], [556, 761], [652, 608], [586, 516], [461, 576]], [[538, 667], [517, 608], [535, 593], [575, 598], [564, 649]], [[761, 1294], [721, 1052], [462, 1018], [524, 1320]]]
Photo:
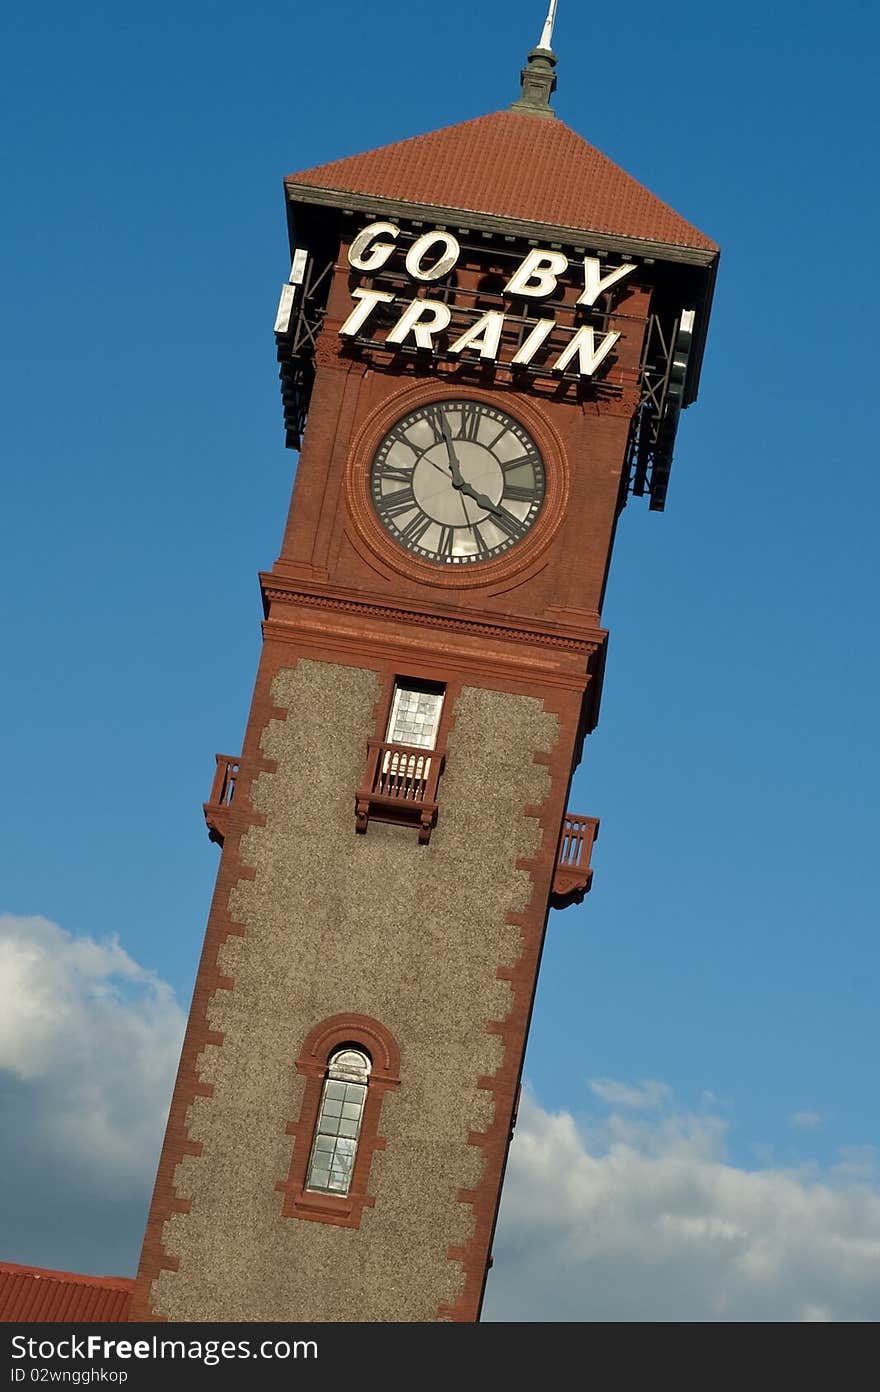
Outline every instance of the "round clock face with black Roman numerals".
[[544, 500], [544, 465], [519, 422], [480, 401], [433, 401], [384, 437], [370, 470], [379, 521], [412, 555], [490, 561], [517, 546]]

